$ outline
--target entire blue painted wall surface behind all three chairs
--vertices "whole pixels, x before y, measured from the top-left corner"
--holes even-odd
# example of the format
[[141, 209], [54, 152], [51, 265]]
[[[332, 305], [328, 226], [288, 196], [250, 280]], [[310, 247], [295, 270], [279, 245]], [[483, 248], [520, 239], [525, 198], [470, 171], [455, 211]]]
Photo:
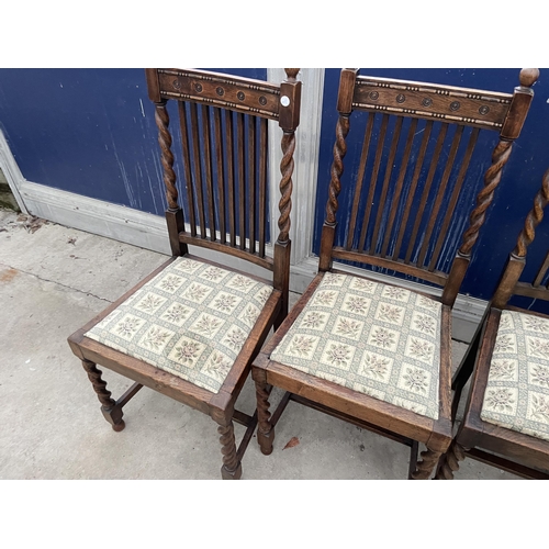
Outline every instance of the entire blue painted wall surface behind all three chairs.
[[[211, 70], [267, 77], [266, 69]], [[362, 69], [361, 74], [509, 92], [518, 83], [518, 69]], [[329, 182], [338, 79], [339, 69], [326, 69], [316, 253]], [[477, 298], [488, 299], [493, 291], [520, 219], [549, 167], [549, 69], [541, 69], [534, 90], [529, 117], [462, 288]], [[166, 202], [157, 131], [142, 69], [0, 69], [0, 128], [27, 180], [163, 215]], [[489, 161], [471, 170], [482, 177]], [[351, 173], [354, 167], [346, 169]], [[341, 208], [340, 215], [346, 211]], [[538, 234], [538, 242], [547, 242], [549, 222]], [[530, 271], [540, 256], [531, 254]]]

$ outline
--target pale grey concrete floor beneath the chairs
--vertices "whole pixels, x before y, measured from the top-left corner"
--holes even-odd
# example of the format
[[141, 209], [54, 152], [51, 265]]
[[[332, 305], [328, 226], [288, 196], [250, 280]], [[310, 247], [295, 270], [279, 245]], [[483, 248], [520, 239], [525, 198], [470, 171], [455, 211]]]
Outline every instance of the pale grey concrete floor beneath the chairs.
[[[143, 389], [114, 433], [67, 337], [166, 256], [0, 211], [0, 479], [219, 479], [216, 425]], [[296, 295], [292, 296], [293, 300]], [[456, 363], [466, 346], [455, 343]], [[128, 381], [109, 371], [113, 396]], [[281, 394], [271, 399], [274, 405]], [[253, 413], [248, 379], [239, 408]], [[237, 442], [244, 427], [236, 426]], [[283, 449], [298, 437], [299, 445]], [[405, 479], [408, 449], [290, 403], [265, 457], [255, 437], [244, 479]], [[459, 479], [516, 479], [466, 460]]]

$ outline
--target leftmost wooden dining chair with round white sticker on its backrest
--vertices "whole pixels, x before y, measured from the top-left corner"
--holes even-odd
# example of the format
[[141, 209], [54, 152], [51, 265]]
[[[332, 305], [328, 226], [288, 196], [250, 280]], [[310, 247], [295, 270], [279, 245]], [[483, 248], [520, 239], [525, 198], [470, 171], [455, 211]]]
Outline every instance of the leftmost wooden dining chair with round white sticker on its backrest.
[[[299, 69], [285, 72], [287, 81], [273, 85], [204, 70], [146, 69], [172, 257], [68, 339], [114, 430], [124, 428], [123, 407], [143, 385], [211, 415], [221, 435], [223, 479], [240, 478], [240, 460], [257, 423], [255, 415], [235, 411], [235, 401], [267, 334], [288, 313], [301, 82]], [[180, 122], [183, 205], [178, 202], [168, 102]], [[270, 250], [269, 120], [282, 128], [283, 153], [279, 232]], [[270, 231], [274, 235], [274, 227]], [[245, 259], [272, 277], [201, 259], [189, 253], [189, 245]], [[97, 365], [135, 383], [115, 401]], [[238, 449], [233, 421], [247, 426]]]

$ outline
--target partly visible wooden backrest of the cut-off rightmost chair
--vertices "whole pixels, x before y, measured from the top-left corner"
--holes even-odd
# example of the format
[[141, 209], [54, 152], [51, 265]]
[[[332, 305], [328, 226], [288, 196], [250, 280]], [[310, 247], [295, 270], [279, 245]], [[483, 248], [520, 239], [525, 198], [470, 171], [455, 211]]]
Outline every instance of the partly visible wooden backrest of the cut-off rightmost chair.
[[544, 209], [549, 203], [549, 169], [544, 175], [541, 189], [534, 199], [534, 208], [526, 216], [524, 227], [518, 235], [515, 249], [511, 253], [505, 270], [491, 300], [491, 305], [503, 309], [513, 295], [549, 301], [549, 281], [542, 282], [549, 271], [549, 250], [531, 282], [520, 281], [526, 266], [526, 251], [536, 236], [536, 227], [544, 219]]

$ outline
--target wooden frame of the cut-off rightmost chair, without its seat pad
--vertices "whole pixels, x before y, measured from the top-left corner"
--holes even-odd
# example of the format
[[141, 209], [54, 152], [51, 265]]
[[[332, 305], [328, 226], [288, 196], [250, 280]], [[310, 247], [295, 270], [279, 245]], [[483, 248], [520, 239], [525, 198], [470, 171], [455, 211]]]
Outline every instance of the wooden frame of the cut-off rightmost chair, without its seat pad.
[[546, 171], [542, 187], [536, 194], [534, 208], [526, 216], [524, 228], [518, 235], [516, 246], [511, 253], [507, 265], [453, 380], [453, 417], [461, 391], [473, 373], [466, 404], [463, 421], [448, 449], [440, 458], [436, 479], [451, 480], [459, 470], [459, 462], [471, 457], [484, 463], [513, 472], [526, 479], [549, 479], [549, 442], [533, 436], [506, 429], [481, 419], [482, 403], [486, 390], [492, 354], [500, 326], [502, 311], [518, 311], [523, 314], [542, 316], [508, 304], [513, 295], [522, 295], [549, 301], [549, 289], [541, 281], [549, 269], [549, 251], [531, 283], [520, 282], [526, 266], [526, 253], [535, 238], [535, 229], [544, 219], [544, 209], [549, 202], [549, 170]]

